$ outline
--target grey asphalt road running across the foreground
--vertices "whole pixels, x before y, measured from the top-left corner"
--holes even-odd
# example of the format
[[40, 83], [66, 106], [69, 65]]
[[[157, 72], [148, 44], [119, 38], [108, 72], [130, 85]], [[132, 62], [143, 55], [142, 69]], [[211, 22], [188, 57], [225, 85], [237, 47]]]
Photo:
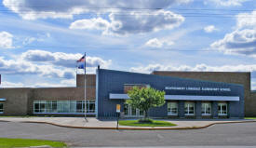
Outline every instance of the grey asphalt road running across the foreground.
[[0, 122], [0, 137], [66, 141], [72, 146], [256, 146], [256, 123], [190, 130], [99, 130]]

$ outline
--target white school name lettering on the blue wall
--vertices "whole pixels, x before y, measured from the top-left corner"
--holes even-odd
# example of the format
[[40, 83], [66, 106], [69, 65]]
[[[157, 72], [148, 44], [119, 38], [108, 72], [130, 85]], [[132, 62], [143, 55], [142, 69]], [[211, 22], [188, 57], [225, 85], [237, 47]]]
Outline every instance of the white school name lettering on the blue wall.
[[231, 91], [229, 87], [165, 87], [168, 90]]

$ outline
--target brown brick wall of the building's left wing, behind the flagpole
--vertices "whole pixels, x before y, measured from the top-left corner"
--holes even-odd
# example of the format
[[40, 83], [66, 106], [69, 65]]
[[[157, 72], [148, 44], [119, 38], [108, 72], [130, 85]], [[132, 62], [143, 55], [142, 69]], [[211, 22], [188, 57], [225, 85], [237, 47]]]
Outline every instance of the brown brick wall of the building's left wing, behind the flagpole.
[[[95, 74], [87, 76], [87, 100], [95, 101], [96, 76]], [[84, 74], [77, 75], [77, 87], [0, 88], [0, 98], [7, 99], [3, 101], [3, 115], [33, 114], [34, 100], [84, 101], [84, 78]]]

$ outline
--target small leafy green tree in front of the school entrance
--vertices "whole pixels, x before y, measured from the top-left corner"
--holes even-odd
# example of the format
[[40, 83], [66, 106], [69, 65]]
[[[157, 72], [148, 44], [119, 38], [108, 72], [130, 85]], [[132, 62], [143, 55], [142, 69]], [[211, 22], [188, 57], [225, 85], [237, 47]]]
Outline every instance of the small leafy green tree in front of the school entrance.
[[144, 111], [144, 120], [148, 119], [148, 111], [152, 107], [160, 107], [165, 104], [165, 91], [156, 90], [153, 87], [132, 87], [128, 90], [129, 100], [126, 102], [133, 108]]

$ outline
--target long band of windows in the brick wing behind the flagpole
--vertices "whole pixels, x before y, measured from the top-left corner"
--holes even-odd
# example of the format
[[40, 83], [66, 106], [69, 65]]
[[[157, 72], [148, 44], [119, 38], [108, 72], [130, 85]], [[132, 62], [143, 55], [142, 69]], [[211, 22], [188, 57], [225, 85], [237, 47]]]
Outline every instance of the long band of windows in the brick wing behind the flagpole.
[[[95, 114], [95, 101], [87, 101], [87, 114]], [[34, 114], [84, 114], [85, 101], [34, 101]]]

